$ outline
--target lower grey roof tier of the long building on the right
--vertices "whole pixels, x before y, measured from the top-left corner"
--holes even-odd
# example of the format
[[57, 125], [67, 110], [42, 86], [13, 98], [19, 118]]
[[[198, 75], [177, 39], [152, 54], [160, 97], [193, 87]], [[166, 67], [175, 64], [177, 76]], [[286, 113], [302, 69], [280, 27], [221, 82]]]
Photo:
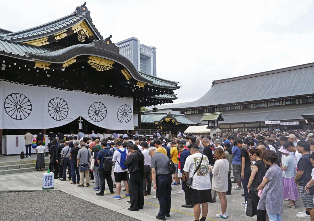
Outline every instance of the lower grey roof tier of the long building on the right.
[[[303, 119], [301, 115], [310, 113], [314, 113], [314, 105], [312, 103], [225, 111], [222, 113], [225, 120], [219, 121], [218, 124], [251, 123], [267, 120], [300, 120]], [[207, 122], [201, 121], [203, 114], [188, 114], [186, 117], [195, 123], [207, 124]]]

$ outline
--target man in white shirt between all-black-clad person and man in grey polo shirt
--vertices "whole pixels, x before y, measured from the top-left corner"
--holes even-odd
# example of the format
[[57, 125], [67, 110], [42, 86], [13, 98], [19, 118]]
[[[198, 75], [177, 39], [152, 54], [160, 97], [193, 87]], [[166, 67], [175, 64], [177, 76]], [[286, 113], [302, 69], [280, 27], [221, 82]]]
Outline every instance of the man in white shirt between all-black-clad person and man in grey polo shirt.
[[[152, 181], [150, 180], [150, 173], [151, 173], [151, 168], [150, 168], [150, 158], [149, 152], [148, 152], [148, 144], [146, 142], [142, 142], [143, 148], [143, 155], [144, 155], [144, 182], [143, 182], [143, 190], [144, 190], [144, 196], [150, 195], [150, 191], [152, 189]], [[147, 183], [147, 185], [146, 185]]]

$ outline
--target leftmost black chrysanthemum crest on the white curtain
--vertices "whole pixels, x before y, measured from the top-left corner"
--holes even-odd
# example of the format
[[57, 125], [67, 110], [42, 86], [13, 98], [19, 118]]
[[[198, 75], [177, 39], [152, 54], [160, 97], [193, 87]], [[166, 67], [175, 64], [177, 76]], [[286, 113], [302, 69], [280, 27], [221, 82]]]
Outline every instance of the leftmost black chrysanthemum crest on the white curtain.
[[30, 99], [23, 94], [13, 93], [4, 100], [4, 110], [15, 120], [24, 120], [32, 112]]

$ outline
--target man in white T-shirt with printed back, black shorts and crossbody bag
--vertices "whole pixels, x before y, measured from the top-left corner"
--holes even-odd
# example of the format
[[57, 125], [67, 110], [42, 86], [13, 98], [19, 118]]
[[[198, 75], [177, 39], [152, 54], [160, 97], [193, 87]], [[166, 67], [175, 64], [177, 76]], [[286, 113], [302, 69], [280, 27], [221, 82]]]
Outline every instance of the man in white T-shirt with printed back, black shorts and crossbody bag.
[[[209, 162], [208, 158], [199, 152], [199, 148], [196, 143], [192, 143], [190, 145], [190, 152], [191, 155], [186, 158], [183, 171], [187, 179], [193, 178], [190, 190], [192, 204], [194, 207], [194, 219], [199, 220], [201, 214], [200, 204], [202, 204], [202, 220], [205, 220], [208, 213], [208, 202], [212, 201], [208, 170]], [[203, 160], [201, 162], [202, 156]], [[198, 167], [199, 163], [201, 163], [201, 165], [194, 174], [194, 171]]]

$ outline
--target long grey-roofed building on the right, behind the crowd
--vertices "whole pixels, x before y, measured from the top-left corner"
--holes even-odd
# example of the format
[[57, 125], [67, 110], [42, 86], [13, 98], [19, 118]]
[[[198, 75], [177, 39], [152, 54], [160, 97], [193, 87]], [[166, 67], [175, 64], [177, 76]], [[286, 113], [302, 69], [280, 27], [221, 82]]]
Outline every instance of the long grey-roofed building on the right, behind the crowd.
[[203, 113], [222, 112], [220, 130], [313, 129], [314, 63], [214, 80], [200, 99], [172, 110], [194, 123]]

